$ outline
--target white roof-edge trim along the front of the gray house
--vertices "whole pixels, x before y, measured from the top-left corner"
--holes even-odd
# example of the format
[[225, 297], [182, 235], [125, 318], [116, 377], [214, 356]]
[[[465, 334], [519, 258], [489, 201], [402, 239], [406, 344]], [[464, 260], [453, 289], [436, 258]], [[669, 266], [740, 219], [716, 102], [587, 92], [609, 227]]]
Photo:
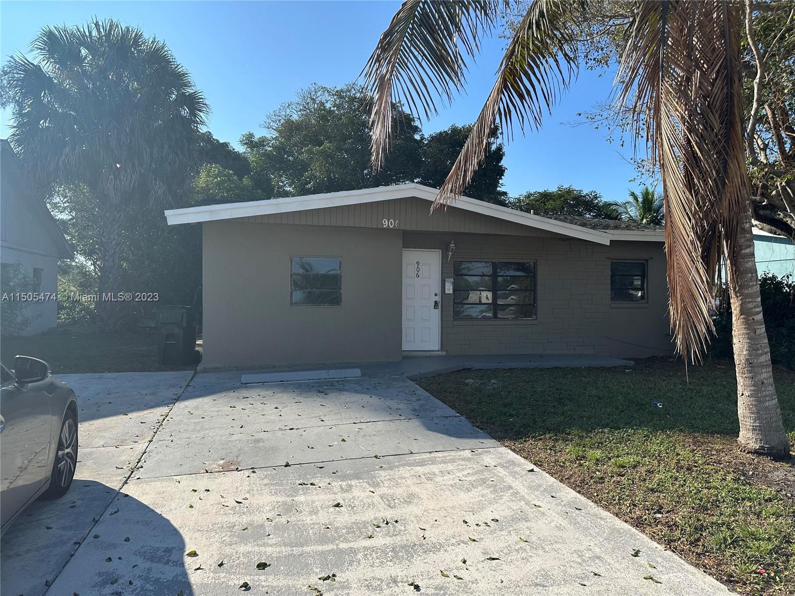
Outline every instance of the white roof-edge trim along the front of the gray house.
[[[326, 207], [341, 207], [361, 203], [374, 203], [392, 199], [417, 197], [430, 203], [436, 200], [439, 190], [422, 184], [396, 184], [379, 188], [365, 188], [357, 191], [326, 192], [320, 195], [293, 196], [285, 199], [268, 199], [249, 203], [222, 203], [217, 205], [200, 205], [184, 209], [165, 211], [170, 226], [180, 223], [213, 222], [223, 219], [238, 219], [291, 211], [308, 211]], [[586, 226], [582, 222], [572, 223], [563, 219], [552, 219], [541, 215], [531, 215], [524, 211], [516, 211], [508, 207], [500, 207], [492, 203], [459, 196], [450, 203], [452, 207], [473, 211], [524, 226], [563, 234], [572, 238], [580, 238], [599, 244], [610, 244], [611, 239], [621, 240], [661, 240], [657, 230], [614, 230]], [[596, 220], [595, 220], [596, 221]], [[629, 235], [628, 235], [629, 234]], [[631, 237], [630, 237], [631, 236]]]

